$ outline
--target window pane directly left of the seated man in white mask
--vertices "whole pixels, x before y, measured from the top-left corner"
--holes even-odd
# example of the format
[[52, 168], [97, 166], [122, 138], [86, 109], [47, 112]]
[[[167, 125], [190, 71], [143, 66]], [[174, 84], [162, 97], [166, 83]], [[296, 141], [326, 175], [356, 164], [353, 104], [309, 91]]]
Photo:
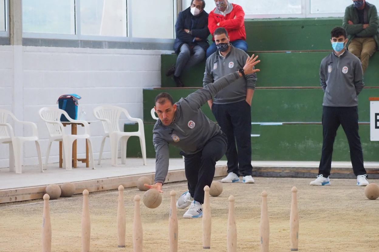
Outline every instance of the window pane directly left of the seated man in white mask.
[[132, 0], [129, 13], [134, 38], [174, 38], [174, 0]]

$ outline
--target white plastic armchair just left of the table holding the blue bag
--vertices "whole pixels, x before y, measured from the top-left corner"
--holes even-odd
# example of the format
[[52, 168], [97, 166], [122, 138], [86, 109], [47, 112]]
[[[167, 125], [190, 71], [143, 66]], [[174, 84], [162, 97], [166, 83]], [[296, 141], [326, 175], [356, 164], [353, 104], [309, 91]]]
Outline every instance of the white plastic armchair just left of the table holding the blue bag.
[[[74, 122], [77, 124], [84, 125], [84, 134], [83, 135], [67, 135], [64, 132], [63, 124], [60, 122], [61, 115], [66, 116], [67, 120], [70, 122]], [[61, 110], [59, 108], [41, 108], [39, 110], [39, 116], [41, 116], [42, 120], [45, 121], [47, 130], [49, 131], [50, 138], [49, 144], [47, 146], [46, 153], [46, 164], [49, 161], [51, 144], [53, 141], [62, 141], [63, 148], [63, 166], [66, 167], [67, 171], [72, 170], [72, 144], [76, 139], [86, 139], [88, 143], [88, 152], [89, 152], [89, 163], [92, 169], [95, 169], [94, 157], [92, 153], [92, 143], [91, 143], [91, 135], [89, 131], [89, 125], [86, 121], [74, 120], [67, 114], [66, 111]]]

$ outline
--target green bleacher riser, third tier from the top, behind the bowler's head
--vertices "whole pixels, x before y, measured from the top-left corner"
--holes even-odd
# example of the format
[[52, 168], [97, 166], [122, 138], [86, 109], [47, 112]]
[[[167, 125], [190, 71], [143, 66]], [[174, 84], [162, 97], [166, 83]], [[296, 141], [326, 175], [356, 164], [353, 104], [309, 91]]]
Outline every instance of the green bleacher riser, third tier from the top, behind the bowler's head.
[[[174, 101], [196, 91], [195, 89], [169, 89], [143, 91], [144, 121], [154, 122], [150, 110], [160, 92], [168, 92]], [[321, 122], [324, 92], [321, 89], [257, 89], [252, 100], [252, 122]], [[379, 97], [379, 89], [363, 89], [359, 94], [359, 121], [370, 121], [368, 97]], [[202, 111], [213, 121], [208, 103]]]

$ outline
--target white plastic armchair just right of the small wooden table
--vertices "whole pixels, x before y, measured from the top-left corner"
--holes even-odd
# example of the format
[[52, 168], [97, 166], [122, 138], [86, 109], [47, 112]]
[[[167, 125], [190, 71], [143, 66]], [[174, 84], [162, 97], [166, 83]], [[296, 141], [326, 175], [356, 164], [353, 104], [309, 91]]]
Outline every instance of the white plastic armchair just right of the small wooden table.
[[[119, 119], [121, 113], [124, 113], [129, 121], [138, 122], [138, 131], [123, 132], [120, 130]], [[105, 135], [103, 136], [103, 140], [101, 142], [98, 164], [100, 164], [101, 162], [105, 139], [107, 137], [109, 137], [111, 144], [112, 166], [116, 166], [119, 140], [121, 139], [121, 163], [126, 164], [127, 141], [130, 138], [130, 136], [138, 136], [139, 142], [141, 144], [143, 164], [146, 165], [145, 131], [143, 121], [141, 119], [131, 117], [128, 111], [124, 108], [110, 105], [98, 106], [94, 108], [94, 115], [97, 119], [99, 119], [102, 122], [105, 131]]]

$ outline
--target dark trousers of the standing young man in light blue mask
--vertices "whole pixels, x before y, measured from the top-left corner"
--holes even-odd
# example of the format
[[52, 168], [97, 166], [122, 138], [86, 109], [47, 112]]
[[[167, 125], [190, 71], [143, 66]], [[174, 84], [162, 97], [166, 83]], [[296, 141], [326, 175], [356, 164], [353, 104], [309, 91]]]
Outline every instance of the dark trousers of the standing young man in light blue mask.
[[342, 125], [348, 138], [350, 159], [356, 176], [366, 174], [363, 167], [363, 153], [358, 133], [358, 108], [323, 106], [323, 149], [318, 174], [329, 177], [332, 164], [334, 139], [338, 127]]

